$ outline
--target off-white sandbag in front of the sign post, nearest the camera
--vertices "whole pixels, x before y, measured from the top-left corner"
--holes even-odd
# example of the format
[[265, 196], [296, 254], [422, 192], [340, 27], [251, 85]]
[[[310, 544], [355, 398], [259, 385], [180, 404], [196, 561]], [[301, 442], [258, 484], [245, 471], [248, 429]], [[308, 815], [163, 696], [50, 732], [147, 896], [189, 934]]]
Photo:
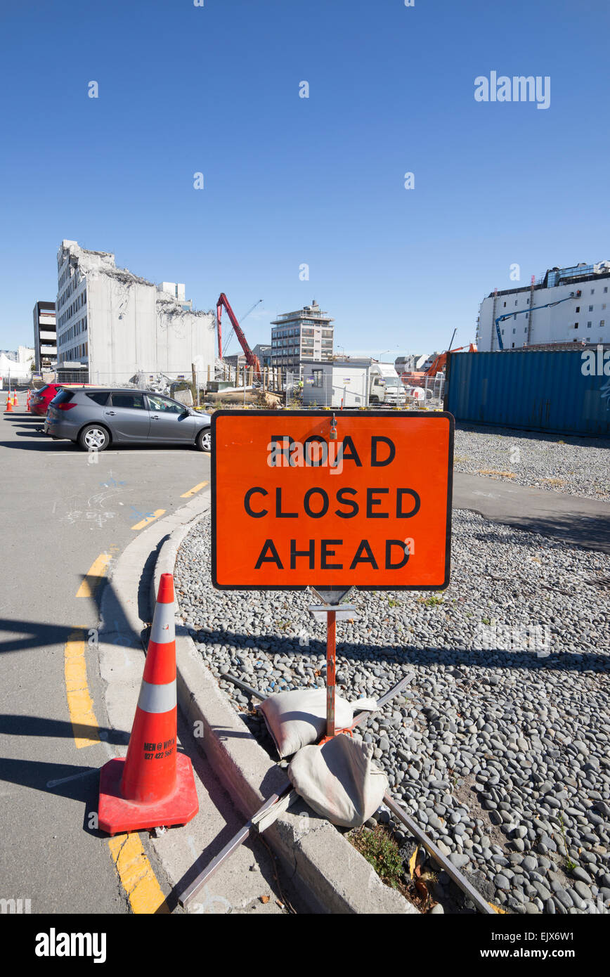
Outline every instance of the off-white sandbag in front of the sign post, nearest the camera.
[[388, 788], [371, 762], [373, 744], [335, 736], [324, 746], [303, 746], [288, 766], [296, 792], [310, 807], [342, 828], [359, 828], [372, 817]]

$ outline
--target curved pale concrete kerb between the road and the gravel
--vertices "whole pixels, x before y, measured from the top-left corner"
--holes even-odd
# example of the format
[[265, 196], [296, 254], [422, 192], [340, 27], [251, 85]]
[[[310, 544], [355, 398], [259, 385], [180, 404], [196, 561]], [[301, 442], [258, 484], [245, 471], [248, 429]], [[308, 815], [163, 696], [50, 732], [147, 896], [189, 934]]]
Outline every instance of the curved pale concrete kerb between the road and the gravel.
[[[209, 509], [209, 496], [190, 503], [170, 520], [175, 528], [164, 537], [151, 581], [154, 606], [161, 573], [174, 573], [181, 542]], [[178, 517], [181, 517], [179, 520]], [[177, 522], [181, 525], [176, 525]], [[167, 522], [164, 520], [164, 522]], [[144, 535], [144, 534], [143, 534]], [[240, 721], [233, 707], [204, 667], [188, 629], [176, 620], [178, 701], [191, 728], [202, 730], [205, 755], [219, 781], [230, 792], [244, 821], [278, 787], [285, 773], [269, 761], [265, 750]], [[298, 878], [314, 912], [413, 913], [418, 910], [398, 892], [381, 882], [359, 852], [325, 819], [299, 802], [265, 838], [290, 876]]]

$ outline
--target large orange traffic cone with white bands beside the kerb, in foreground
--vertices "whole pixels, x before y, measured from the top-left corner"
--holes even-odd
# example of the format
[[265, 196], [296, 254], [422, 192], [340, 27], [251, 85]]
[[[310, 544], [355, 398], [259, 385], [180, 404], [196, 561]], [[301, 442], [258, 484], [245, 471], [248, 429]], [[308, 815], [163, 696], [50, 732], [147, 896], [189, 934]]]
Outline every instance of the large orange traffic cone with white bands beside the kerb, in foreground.
[[162, 573], [127, 756], [100, 771], [99, 826], [109, 834], [185, 825], [199, 805], [191, 760], [177, 752], [174, 578]]

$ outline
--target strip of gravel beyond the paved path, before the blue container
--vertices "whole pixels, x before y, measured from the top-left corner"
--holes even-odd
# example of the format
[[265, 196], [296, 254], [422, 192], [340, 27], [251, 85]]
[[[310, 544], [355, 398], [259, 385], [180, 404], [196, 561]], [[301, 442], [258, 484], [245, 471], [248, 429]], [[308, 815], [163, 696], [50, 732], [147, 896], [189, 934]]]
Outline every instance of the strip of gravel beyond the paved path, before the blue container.
[[610, 442], [498, 428], [456, 429], [457, 472], [566, 495], [610, 498]]

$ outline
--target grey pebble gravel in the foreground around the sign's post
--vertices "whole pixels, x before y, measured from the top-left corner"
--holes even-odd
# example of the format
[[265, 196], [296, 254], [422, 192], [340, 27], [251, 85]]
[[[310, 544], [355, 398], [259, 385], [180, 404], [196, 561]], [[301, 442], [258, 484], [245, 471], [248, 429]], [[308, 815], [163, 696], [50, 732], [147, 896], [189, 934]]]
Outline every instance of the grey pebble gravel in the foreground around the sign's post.
[[[361, 617], [337, 625], [341, 694], [380, 696], [414, 669], [405, 698], [362, 732], [393, 796], [488, 900], [509, 913], [608, 913], [610, 557], [457, 511], [453, 566], [441, 594], [350, 598]], [[214, 675], [268, 693], [324, 684], [325, 628], [307, 592], [214, 590], [207, 518], [175, 578]], [[277, 760], [248, 699], [220, 685]], [[435, 912], [468, 912], [444, 871], [432, 894]]]

